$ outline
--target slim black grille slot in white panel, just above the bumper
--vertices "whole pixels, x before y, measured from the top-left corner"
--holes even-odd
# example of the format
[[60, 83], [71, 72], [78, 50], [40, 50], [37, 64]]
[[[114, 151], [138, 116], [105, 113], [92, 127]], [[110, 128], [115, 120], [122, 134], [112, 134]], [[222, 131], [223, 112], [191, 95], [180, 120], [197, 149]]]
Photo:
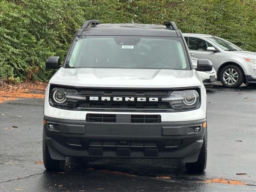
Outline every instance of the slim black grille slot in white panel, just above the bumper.
[[87, 114], [87, 122], [108, 123], [160, 123], [160, 115]]

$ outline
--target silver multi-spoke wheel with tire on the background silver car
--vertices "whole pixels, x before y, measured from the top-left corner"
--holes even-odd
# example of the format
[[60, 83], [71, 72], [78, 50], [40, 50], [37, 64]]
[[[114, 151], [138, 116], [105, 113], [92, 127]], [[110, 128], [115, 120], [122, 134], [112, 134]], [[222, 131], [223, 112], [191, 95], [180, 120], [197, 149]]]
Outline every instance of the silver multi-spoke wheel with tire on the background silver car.
[[235, 65], [227, 65], [220, 71], [220, 81], [228, 88], [239, 87], [244, 82], [244, 73]]

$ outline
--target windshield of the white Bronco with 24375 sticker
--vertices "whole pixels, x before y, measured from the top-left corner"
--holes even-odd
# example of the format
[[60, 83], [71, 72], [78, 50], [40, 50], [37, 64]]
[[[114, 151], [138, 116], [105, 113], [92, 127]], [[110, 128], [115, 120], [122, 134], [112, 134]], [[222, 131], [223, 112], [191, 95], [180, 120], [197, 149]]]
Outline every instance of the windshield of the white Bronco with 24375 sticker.
[[66, 67], [190, 70], [184, 52], [181, 38], [78, 36]]

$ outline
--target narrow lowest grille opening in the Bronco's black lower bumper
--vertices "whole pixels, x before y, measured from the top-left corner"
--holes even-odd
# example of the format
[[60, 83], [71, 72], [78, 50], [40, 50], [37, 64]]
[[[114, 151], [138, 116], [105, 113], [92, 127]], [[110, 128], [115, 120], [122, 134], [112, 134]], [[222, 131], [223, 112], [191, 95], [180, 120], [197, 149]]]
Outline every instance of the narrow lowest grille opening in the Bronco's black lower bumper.
[[90, 147], [150, 147], [156, 148], [157, 141], [90, 140]]

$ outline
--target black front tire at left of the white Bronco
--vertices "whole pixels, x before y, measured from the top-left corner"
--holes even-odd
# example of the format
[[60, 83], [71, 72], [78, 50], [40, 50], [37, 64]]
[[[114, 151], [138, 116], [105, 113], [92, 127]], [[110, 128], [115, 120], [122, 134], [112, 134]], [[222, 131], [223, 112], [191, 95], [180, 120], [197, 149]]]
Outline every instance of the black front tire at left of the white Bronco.
[[48, 146], [45, 140], [45, 133], [43, 132], [43, 160], [44, 167], [48, 171], [60, 171], [63, 170], [66, 164], [66, 161], [63, 160], [55, 160], [50, 157], [50, 153], [48, 150]]

